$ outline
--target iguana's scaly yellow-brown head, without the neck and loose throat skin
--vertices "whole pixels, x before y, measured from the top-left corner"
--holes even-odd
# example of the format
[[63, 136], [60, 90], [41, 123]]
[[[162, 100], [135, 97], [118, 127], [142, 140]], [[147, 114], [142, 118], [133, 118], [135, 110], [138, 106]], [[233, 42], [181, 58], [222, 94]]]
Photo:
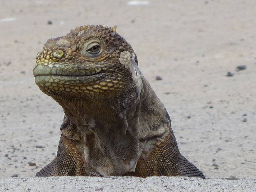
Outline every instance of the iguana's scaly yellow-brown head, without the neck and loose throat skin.
[[33, 74], [41, 91], [54, 99], [103, 101], [135, 88], [137, 64], [116, 26], [87, 25], [49, 39], [36, 56]]

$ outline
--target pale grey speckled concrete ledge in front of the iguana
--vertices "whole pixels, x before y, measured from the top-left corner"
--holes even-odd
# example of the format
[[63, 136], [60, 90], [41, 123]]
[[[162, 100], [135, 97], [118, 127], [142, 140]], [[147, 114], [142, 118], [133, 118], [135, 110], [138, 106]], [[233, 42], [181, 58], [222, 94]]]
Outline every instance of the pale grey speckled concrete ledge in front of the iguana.
[[0, 191], [256, 191], [256, 179], [191, 177], [28, 177], [0, 180]]

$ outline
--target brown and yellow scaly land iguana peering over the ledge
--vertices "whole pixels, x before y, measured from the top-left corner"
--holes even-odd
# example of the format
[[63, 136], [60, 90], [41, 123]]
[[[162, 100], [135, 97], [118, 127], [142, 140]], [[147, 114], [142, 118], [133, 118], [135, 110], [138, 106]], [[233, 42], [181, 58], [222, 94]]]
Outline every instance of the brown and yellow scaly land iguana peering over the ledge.
[[49, 39], [33, 68], [65, 116], [56, 158], [36, 176], [191, 176], [170, 117], [116, 26], [76, 27]]

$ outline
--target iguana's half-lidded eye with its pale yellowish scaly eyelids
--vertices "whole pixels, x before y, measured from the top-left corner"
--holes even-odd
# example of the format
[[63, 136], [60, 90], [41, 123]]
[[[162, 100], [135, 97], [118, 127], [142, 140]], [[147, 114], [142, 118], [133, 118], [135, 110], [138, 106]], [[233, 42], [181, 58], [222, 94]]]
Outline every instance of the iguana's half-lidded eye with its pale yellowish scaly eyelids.
[[85, 42], [81, 46], [81, 54], [87, 56], [87, 57], [97, 57], [101, 54], [102, 48], [101, 48], [100, 42], [97, 41], [89, 41]]

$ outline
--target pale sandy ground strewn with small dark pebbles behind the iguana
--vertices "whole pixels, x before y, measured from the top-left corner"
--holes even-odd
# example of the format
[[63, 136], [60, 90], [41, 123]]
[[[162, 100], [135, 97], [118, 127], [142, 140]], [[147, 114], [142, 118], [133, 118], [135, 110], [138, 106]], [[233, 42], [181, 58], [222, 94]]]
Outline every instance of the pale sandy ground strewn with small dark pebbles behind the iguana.
[[135, 50], [180, 152], [207, 178], [256, 185], [255, 0], [128, 2], [0, 0], [0, 178], [13, 177], [1, 182], [56, 156], [63, 111], [34, 83], [37, 52], [76, 26], [105, 24]]

